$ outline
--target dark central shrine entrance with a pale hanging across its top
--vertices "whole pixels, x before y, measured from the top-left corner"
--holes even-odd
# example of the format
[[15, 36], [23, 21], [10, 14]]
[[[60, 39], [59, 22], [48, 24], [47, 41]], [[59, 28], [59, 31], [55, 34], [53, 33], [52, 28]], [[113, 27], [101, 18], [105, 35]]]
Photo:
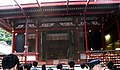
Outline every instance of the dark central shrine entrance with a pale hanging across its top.
[[74, 55], [70, 31], [41, 32], [41, 37], [41, 59], [69, 59], [71, 53]]

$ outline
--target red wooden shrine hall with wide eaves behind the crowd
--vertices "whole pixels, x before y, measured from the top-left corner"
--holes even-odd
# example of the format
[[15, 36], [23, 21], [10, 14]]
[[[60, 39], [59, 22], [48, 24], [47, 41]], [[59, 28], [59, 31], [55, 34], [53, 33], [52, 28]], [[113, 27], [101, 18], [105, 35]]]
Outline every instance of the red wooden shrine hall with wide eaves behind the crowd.
[[12, 34], [12, 53], [24, 62], [120, 63], [120, 0], [7, 0], [0, 27]]

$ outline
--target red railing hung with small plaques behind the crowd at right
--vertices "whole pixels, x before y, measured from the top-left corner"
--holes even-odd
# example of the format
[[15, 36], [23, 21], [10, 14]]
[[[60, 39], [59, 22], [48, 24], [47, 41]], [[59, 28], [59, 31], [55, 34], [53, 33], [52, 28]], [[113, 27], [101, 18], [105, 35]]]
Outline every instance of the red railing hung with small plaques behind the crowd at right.
[[120, 68], [120, 50], [87, 51], [87, 60], [89, 59], [101, 59], [103, 64], [113, 61]]

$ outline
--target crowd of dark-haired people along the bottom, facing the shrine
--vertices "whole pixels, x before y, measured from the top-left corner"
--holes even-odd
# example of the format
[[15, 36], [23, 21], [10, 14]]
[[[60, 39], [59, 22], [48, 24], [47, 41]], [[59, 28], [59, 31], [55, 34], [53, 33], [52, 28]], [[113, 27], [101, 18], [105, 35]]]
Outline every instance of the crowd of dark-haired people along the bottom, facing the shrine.
[[[75, 62], [73, 60], [68, 61], [68, 68], [64, 69], [61, 63], [56, 65], [57, 70], [75, 70]], [[34, 61], [33, 64], [25, 63], [20, 64], [19, 59], [14, 54], [9, 54], [2, 59], [3, 70], [39, 70], [38, 62]], [[46, 65], [43, 64], [41, 70], [47, 70]], [[48, 70], [53, 70], [49, 67]], [[107, 62], [105, 65], [101, 64], [100, 59], [89, 60], [87, 63], [80, 64], [79, 70], [119, 70], [112, 61]]]

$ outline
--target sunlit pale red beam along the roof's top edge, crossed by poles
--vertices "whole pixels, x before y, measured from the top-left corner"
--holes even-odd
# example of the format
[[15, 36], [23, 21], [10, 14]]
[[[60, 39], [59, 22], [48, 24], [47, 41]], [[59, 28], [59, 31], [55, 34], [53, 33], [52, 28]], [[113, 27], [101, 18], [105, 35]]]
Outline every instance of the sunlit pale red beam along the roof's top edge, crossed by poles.
[[[81, 2], [81, 1], [69, 1], [69, 5], [85, 5], [87, 3], [86, 2]], [[118, 4], [120, 3], [119, 0], [116, 1], [101, 1], [101, 2], [90, 2], [90, 5], [94, 5], [94, 4]], [[33, 7], [39, 7], [38, 3], [32, 3], [32, 4], [22, 4], [21, 5], [22, 8], [33, 8]], [[66, 6], [66, 2], [42, 2], [41, 7], [46, 7], [46, 6]], [[5, 9], [18, 9], [19, 7], [17, 5], [13, 6], [13, 5], [8, 5], [8, 6], [0, 6], [1, 10], [5, 10]]]

